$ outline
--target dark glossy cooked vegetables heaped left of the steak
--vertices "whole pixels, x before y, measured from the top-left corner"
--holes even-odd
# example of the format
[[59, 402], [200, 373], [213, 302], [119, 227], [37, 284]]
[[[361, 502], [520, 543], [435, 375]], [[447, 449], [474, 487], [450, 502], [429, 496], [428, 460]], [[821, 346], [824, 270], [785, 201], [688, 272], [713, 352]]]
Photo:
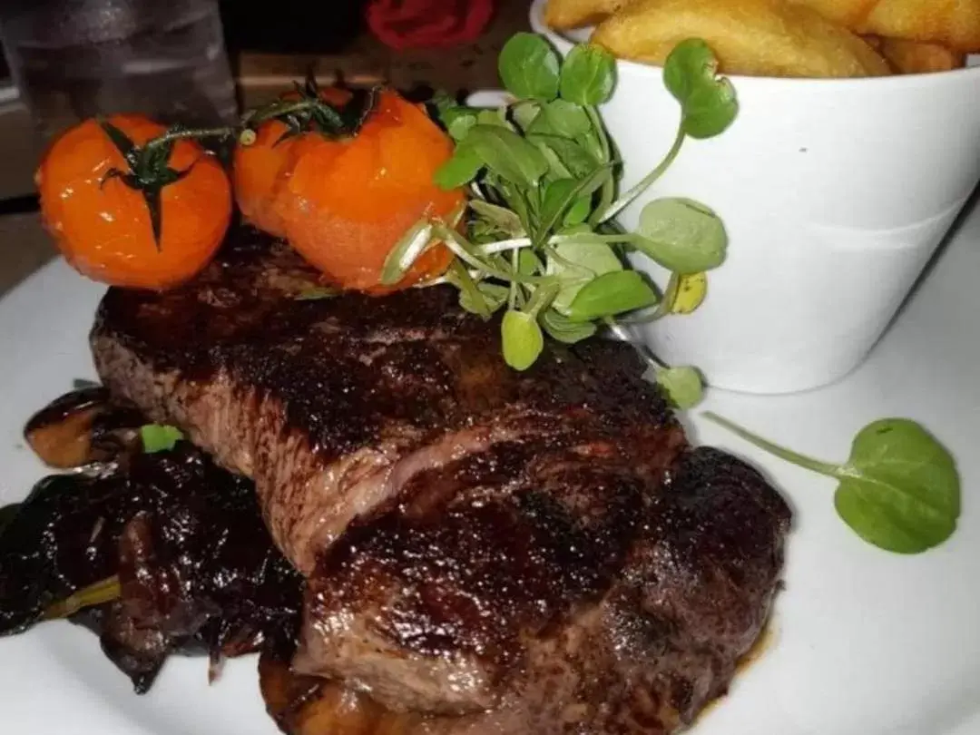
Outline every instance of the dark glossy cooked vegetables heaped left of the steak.
[[[93, 389], [63, 396], [30, 426], [57, 426], [100, 398]], [[144, 422], [136, 416], [130, 426]], [[43, 478], [8, 508], [0, 635], [26, 630], [53, 603], [119, 575], [121, 599], [73, 621], [100, 636], [139, 693], [174, 653], [217, 660], [293, 636], [302, 578], [272, 544], [252, 482], [187, 442], [158, 454], [121, 446], [111, 462]]]

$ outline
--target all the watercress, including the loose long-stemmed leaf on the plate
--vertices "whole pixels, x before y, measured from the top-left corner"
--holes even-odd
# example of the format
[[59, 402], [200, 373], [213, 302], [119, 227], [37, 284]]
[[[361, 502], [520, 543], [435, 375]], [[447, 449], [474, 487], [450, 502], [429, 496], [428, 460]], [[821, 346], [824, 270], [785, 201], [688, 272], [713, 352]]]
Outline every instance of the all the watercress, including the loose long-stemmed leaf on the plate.
[[[706, 205], [659, 198], [640, 213], [637, 231], [615, 221], [680, 154], [688, 138], [722, 133], [738, 102], [701, 40], [679, 43], [663, 67], [664, 86], [681, 108], [676, 136], [661, 163], [619, 191], [621, 167], [599, 107], [613, 94], [615, 63], [602, 48], [580, 44], [562, 60], [533, 33], [518, 33], [499, 60], [513, 101], [476, 110], [437, 101], [440, 121], [456, 146], [435, 175], [443, 188], [467, 186], [463, 211], [446, 221], [417, 222], [392, 250], [382, 282], [398, 282], [435, 242], [456, 260], [443, 280], [460, 291], [466, 311], [490, 319], [504, 310], [504, 359], [530, 368], [547, 334], [573, 344], [600, 328], [629, 339], [626, 324], [688, 315], [708, 294], [708, 272], [725, 260], [724, 225]], [[465, 225], [465, 226], [462, 226]], [[669, 271], [658, 285], [629, 270], [639, 253]], [[700, 403], [701, 372], [667, 366], [638, 345], [664, 395], [679, 409]], [[830, 465], [778, 447], [732, 422], [707, 415], [784, 460], [834, 477], [838, 514], [858, 535], [888, 551], [912, 554], [945, 541], [956, 529], [959, 478], [950, 453], [904, 418], [863, 428], [851, 458]]]

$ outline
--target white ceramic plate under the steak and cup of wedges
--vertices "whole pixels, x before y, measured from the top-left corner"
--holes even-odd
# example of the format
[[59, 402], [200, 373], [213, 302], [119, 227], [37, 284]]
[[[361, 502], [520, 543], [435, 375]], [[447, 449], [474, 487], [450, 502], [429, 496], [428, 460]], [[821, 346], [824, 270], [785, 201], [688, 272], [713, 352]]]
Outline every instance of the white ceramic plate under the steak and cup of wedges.
[[[766, 650], [696, 735], [980, 732], [978, 278], [974, 211], [857, 372], [807, 394], [714, 393], [706, 406], [828, 460], [844, 460], [854, 433], [876, 417], [924, 422], [956, 453], [963, 479], [960, 528], [933, 552], [903, 558], [865, 545], [834, 514], [831, 481], [694, 419], [698, 440], [757, 462], [796, 510]], [[826, 288], [832, 297], [833, 283]], [[23, 497], [44, 471], [25, 449], [25, 418], [73, 378], [94, 377], [86, 336], [101, 293], [59, 261], [0, 301], [4, 502]], [[0, 639], [0, 732], [272, 735], [257, 679], [254, 658], [229, 663], [211, 687], [205, 662], [172, 660], [151, 693], [137, 697], [94, 636], [49, 623]]]

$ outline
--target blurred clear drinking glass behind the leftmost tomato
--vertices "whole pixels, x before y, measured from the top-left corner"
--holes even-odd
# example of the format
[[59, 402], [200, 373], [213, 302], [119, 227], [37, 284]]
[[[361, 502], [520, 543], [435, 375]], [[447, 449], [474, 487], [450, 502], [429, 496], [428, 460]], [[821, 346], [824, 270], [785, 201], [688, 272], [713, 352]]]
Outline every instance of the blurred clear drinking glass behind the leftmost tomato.
[[4, 0], [0, 40], [38, 131], [96, 115], [230, 123], [218, 0]]

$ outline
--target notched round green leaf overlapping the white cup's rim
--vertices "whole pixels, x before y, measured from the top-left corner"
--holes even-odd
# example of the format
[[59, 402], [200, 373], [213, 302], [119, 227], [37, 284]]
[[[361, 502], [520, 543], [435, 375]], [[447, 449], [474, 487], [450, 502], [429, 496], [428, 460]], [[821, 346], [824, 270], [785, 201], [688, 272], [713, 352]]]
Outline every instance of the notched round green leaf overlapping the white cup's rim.
[[681, 126], [692, 138], [720, 134], [738, 114], [735, 88], [717, 70], [711, 48], [698, 38], [678, 43], [663, 64], [663, 84], [680, 103]]

